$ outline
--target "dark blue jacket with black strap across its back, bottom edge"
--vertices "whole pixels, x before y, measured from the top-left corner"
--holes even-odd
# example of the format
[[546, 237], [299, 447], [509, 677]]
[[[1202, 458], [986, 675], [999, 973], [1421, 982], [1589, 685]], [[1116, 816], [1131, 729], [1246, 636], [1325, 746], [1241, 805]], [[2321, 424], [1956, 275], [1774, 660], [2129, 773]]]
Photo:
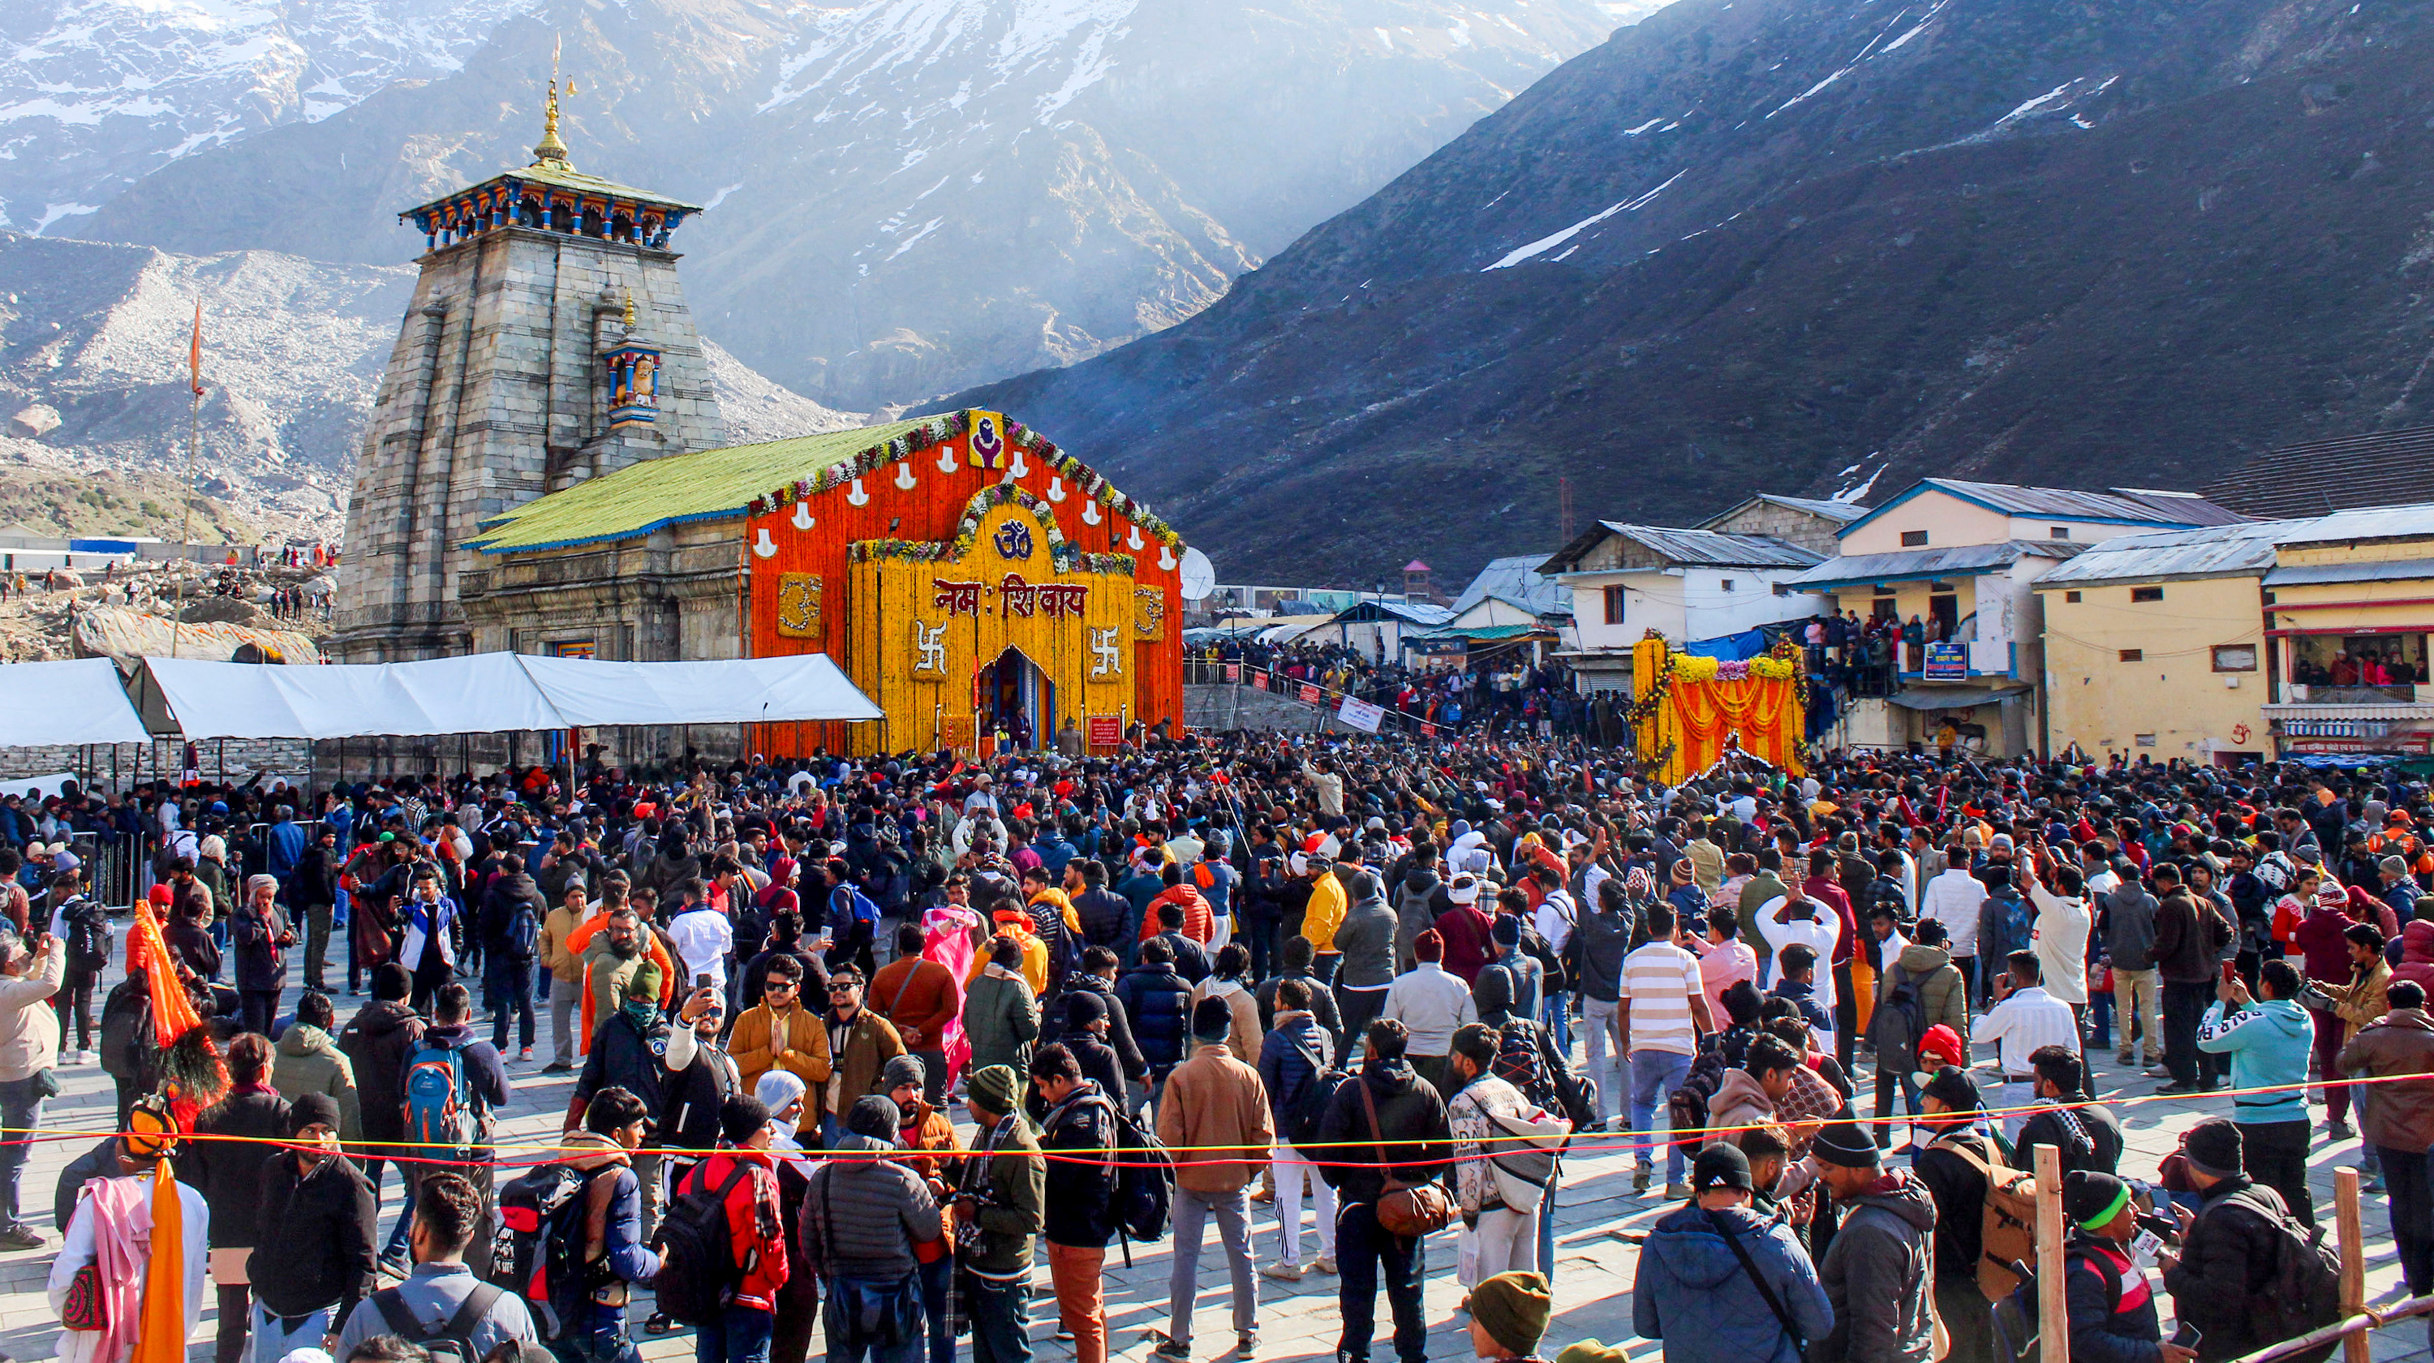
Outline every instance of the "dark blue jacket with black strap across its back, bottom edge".
[[[1750, 1263], [1808, 1341], [1833, 1329], [1833, 1307], [1791, 1229], [1755, 1212], [1716, 1212], [1733, 1224]], [[1699, 1207], [1658, 1222], [1641, 1246], [1631, 1288], [1631, 1329], [1665, 1341], [1665, 1363], [1796, 1363], [1799, 1351], [1740, 1268], [1733, 1246]]]

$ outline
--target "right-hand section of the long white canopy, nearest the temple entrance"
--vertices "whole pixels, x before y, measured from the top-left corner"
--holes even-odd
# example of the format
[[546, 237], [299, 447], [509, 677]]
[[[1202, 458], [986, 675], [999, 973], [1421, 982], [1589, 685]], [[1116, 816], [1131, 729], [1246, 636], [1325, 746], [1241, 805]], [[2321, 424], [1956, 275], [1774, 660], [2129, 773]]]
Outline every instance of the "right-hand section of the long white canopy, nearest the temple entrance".
[[820, 652], [723, 662], [599, 662], [516, 655], [557, 706], [557, 728], [884, 718]]

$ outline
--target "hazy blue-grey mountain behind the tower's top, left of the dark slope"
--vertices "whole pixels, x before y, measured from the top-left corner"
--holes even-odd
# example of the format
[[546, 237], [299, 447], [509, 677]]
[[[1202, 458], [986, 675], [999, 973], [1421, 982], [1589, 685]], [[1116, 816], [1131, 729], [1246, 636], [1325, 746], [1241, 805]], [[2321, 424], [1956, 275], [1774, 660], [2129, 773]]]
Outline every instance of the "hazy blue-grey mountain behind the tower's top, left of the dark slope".
[[399, 207], [528, 158], [562, 39], [574, 163], [711, 207], [677, 239], [703, 329], [862, 411], [1200, 312], [1648, 7], [543, 0], [453, 73], [195, 151], [54, 231], [404, 260]]

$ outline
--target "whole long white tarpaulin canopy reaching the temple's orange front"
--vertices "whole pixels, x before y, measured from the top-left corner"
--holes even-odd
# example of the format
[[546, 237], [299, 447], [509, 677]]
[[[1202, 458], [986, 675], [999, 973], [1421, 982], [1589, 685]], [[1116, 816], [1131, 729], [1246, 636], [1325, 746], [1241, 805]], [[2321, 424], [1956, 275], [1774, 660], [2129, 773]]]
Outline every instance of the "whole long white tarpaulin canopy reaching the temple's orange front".
[[477, 652], [333, 667], [146, 657], [144, 667], [195, 740], [881, 718], [823, 655], [591, 662]]

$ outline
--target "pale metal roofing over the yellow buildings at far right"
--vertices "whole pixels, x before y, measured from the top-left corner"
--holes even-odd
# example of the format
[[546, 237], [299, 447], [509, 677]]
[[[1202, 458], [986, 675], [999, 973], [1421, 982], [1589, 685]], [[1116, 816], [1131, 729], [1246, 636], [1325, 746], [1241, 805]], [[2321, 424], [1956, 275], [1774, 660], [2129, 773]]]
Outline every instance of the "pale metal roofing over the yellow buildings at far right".
[[[2266, 574], [2264, 582], [2268, 587], [2273, 582], [2385, 582], [2395, 577], [2434, 577], [2434, 560], [2410, 560], [2407, 565], [2344, 562], [2322, 567], [2273, 567], [2283, 545], [2388, 540], [2405, 535], [2434, 538], [2434, 504], [2368, 506], [2359, 511], [2337, 511], [2332, 516], [2300, 516], [2293, 521], [2242, 521], [2237, 526], [2203, 526], [2195, 531], [2115, 535], [2088, 545], [2088, 550], [2079, 557], [2045, 572], [2037, 577], [2037, 587], [2234, 574]], [[2410, 572], [2410, 567], [2419, 567], [2424, 572]]]

